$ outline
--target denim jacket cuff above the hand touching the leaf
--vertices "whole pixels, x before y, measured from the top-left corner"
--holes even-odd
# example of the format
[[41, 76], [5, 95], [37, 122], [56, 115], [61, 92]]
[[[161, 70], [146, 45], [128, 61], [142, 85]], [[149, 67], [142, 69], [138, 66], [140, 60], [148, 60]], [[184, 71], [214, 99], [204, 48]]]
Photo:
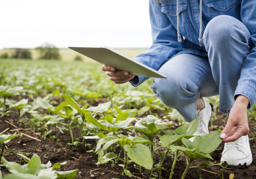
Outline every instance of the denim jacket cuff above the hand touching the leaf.
[[252, 110], [252, 106], [256, 101], [256, 85], [250, 81], [241, 81], [235, 90], [234, 99], [238, 94], [242, 94], [249, 99], [248, 109]]

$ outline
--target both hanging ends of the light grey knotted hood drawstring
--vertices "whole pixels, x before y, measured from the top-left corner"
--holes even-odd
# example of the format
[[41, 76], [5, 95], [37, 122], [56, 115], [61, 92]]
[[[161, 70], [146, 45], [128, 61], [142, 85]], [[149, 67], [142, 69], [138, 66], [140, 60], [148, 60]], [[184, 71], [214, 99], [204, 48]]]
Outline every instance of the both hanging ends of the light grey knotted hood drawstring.
[[[199, 45], [200, 47], [203, 46], [202, 40], [202, 0], [200, 0], [200, 13], [199, 13], [199, 21], [200, 21], [200, 29], [199, 29]], [[179, 16], [179, 0], [177, 0], [177, 34], [178, 34], [178, 41], [182, 42], [181, 34], [180, 34], [180, 16]]]

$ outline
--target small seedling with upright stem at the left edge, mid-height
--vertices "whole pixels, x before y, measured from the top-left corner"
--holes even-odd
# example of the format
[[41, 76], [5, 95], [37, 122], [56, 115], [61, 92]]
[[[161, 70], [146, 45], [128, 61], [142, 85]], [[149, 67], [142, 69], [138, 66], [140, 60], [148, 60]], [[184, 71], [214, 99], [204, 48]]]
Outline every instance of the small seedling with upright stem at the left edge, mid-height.
[[4, 104], [3, 104], [3, 113], [5, 113], [6, 108], [6, 99], [10, 96], [19, 95], [20, 93], [18, 91], [22, 90], [23, 87], [13, 87], [13, 88], [7, 88], [5, 86], [0, 86], [0, 96], [3, 96], [4, 98]]

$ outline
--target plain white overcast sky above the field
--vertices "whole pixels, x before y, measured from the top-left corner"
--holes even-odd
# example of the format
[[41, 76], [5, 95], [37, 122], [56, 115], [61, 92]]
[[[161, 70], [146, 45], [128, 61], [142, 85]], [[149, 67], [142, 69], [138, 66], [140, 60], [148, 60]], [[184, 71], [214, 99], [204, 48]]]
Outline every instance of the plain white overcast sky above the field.
[[1, 0], [0, 49], [148, 48], [148, 0]]

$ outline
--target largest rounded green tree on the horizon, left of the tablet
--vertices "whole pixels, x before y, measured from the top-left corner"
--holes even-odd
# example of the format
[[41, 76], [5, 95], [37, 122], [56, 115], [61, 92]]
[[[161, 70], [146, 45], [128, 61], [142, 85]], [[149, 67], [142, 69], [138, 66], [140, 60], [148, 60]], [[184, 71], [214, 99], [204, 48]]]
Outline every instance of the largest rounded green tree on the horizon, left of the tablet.
[[43, 45], [36, 47], [39, 51], [39, 59], [61, 59], [59, 54], [59, 48], [50, 43], [44, 43]]

